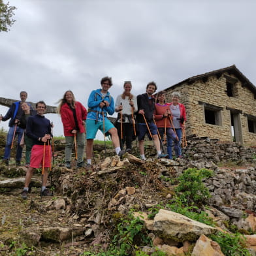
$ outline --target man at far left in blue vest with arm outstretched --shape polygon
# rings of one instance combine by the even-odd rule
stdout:
[[[20,140],[22,140],[22,135],[24,132],[24,129],[18,126],[19,123],[19,117],[22,116],[23,110],[22,110],[22,103],[24,103],[27,99],[27,92],[21,91],[20,92],[20,101],[16,101],[15,103],[12,103],[12,106],[10,106],[7,114],[5,116],[0,116],[0,121],[9,121],[9,130],[7,133],[7,142],[5,144],[5,154],[3,155],[3,163],[5,165],[9,164],[10,160],[10,148],[12,145],[12,138],[17,135],[18,136],[18,144],[17,144],[17,150],[16,150],[16,165],[20,165],[20,161],[22,159],[22,147],[20,146]]]

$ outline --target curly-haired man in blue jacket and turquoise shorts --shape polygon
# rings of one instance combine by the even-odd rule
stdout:
[[[107,114],[114,114],[114,99],[110,96],[108,89],[112,86],[112,78],[105,76],[101,79],[101,89],[91,91],[88,99],[88,116],[86,119],[86,158],[88,167],[91,165],[93,155],[93,140],[98,130],[105,135],[111,135],[112,143],[116,154],[120,157],[123,150],[120,148],[118,131],[116,127],[108,120]]]

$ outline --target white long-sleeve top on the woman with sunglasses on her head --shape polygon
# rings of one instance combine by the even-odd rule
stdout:
[[[116,98],[116,104],[115,104],[115,110],[116,112],[119,112],[118,106],[122,104],[123,110],[122,115],[123,115],[123,122],[124,123],[133,123],[132,120],[132,108],[129,104],[129,96],[125,96],[125,99],[121,98],[121,95],[118,95]],[[133,98],[133,113],[137,112],[138,106],[137,106],[137,99],[136,97]],[[118,122],[121,121],[120,115],[118,115]]]

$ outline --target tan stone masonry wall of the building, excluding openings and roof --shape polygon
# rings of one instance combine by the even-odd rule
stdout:
[[[256,100],[253,93],[238,80],[234,84],[234,97],[227,95],[226,76],[237,79],[232,74],[224,73],[221,77],[212,75],[206,82],[196,80],[193,84],[182,84],[167,91],[167,101],[171,101],[172,91],[179,91],[182,94],[181,103],[185,104],[187,113],[186,131],[187,135],[208,136],[218,138],[221,141],[232,141],[231,133],[231,111],[241,110],[239,114],[243,144],[256,145],[256,133],[248,132],[248,119],[245,114],[256,116]],[[204,105],[200,102],[212,104],[221,108],[220,125],[205,123]]]

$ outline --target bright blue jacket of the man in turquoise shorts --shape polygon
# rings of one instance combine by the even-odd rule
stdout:
[[[109,106],[104,106],[100,108],[99,104],[102,101],[108,101]],[[88,115],[87,119],[103,121],[103,112],[104,112],[104,120],[107,119],[107,114],[114,114],[115,105],[114,99],[110,96],[110,93],[107,92],[106,95],[101,93],[101,89],[96,89],[91,91],[88,99]]]

